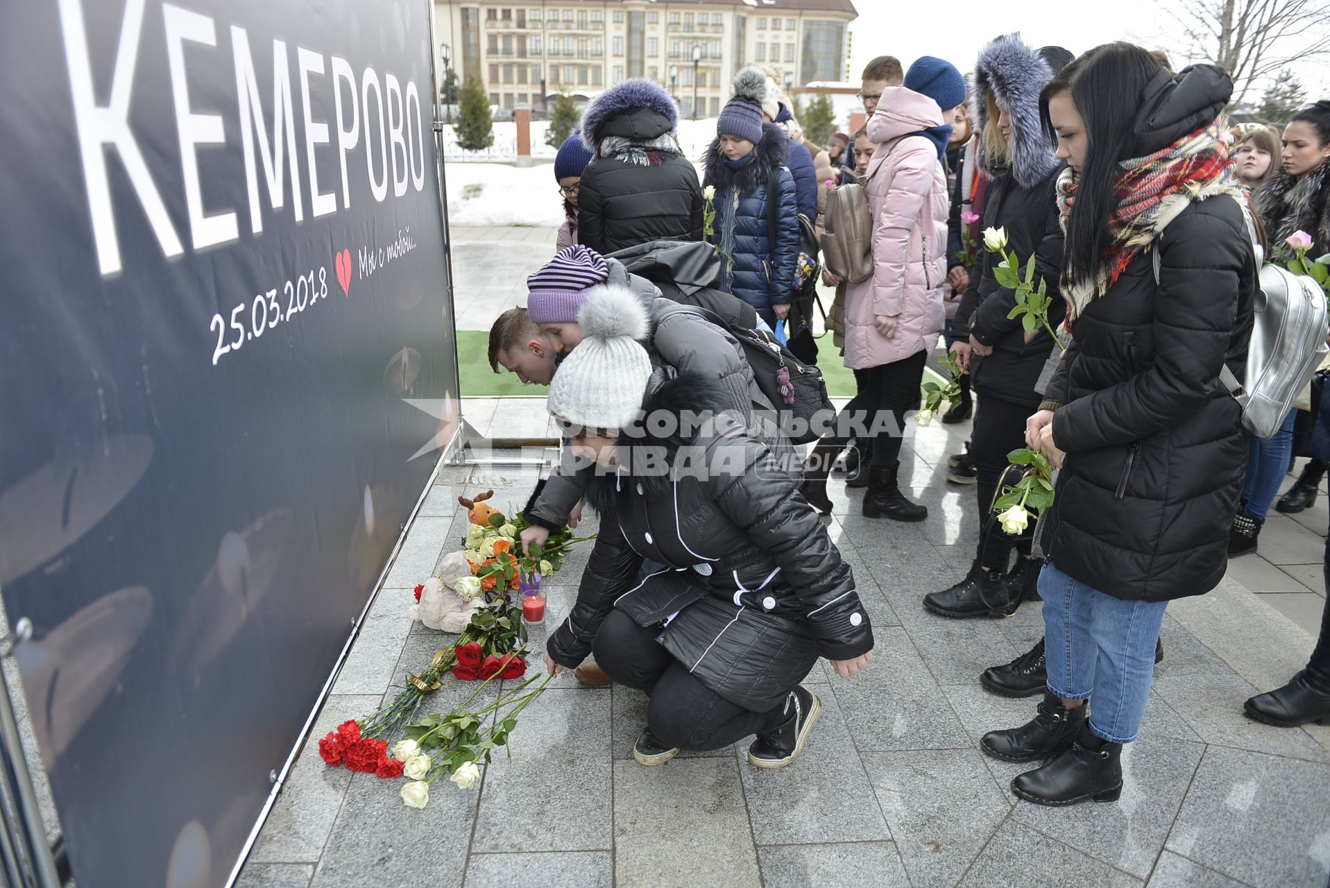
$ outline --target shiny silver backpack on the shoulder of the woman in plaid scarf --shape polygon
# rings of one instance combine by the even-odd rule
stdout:
[[[1242,407],[1242,425],[1257,437],[1279,431],[1298,392],[1330,352],[1330,315],[1321,284],[1277,265],[1264,265],[1256,227],[1242,207],[1248,235],[1256,250],[1261,277],[1256,291],[1256,316],[1248,346],[1246,384],[1225,366],[1220,382]],[[1165,229],[1168,231],[1168,229]],[[1162,237],[1162,233],[1161,235]],[[1154,246],[1154,283],[1160,280],[1158,238]]]

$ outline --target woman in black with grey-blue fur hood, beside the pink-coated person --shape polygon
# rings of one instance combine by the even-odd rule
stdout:
[[[1053,55],[1051,49],[1035,52],[1015,35],[994,40],[975,64],[971,101],[982,133],[976,162],[992,179],[982,225],[1007,231],[1007,249],[1023,267],[1035,258],[1035,273],[1047,282],[1052,299],[1048,320],[1056,328],[1064,312],[1059,292],[1063,231],[1053,201],[1060,165],[1039,120],[1039,90],[1053,76],[1044,52]],[[1035,387],[1053,348],[1041,327],[1028,335],[1020,318],[1007,316],[1016,294],[998,283],[994,269],[999,262],[998,254],[982,253],[951,322],[951,350],[962,367],[970,367],[971,386],[982,396],[970,444],[979,477],[980,542],[964,578],[924,596],[924,606],[944,617],[979,617],[990,608],[1013,610],[1039,578],[1028,536],[1016,544],[1016,564],[1008,573],[1011,537],[995,532],[986,541],[983,533],[1007,455],[1021,447],[1025,419],[1039,407]]]

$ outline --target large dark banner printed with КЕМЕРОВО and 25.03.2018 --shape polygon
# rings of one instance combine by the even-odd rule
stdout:
[[[0,11],[0,589],[81,885],[226,883],[451,440],[430,9]]]

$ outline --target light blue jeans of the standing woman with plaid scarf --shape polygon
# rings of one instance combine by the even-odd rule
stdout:
[[[1154,678],[1154,643],[1166,601],[1123,601],[1044,564],[1044,657],[1048,693],[1091,701],[1089,730],[1130,743],[1141,730]]]

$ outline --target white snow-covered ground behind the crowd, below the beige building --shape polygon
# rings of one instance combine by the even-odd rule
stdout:
[[[495,124],[492,153],[497,156],[504,145],[516,142],[516,126],[512,122]],[[456,158],[444,156],[450,225],[557,227],[563,223],[563,201],[559,198],[553,167],[548,162],[540,162],[541,160],[553,161],[556,152],[545,145],[545,121],[536,121],[531,125],[535,166],[516,167],[503,162],[458,162]],[[444,129],[446,142],[451,140],[450,129]],[[697,175],[701,181],[700,158],[710,141],[716,138],[716,118],[682,120],[678,122],[678,133],[680,148],[698,167]]]

